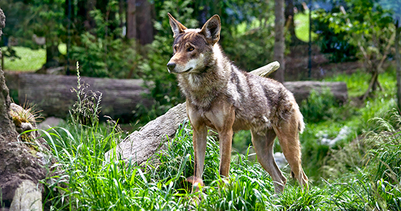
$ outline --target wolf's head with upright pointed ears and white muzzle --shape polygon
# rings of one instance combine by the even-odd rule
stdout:
[[[202,29],[188,29],[171,14],[169,20],[174,32],[174,54],[167,69],[175,74],[202,72],[213,53],[214,44],[220,39],[220,17],[215,14]]]

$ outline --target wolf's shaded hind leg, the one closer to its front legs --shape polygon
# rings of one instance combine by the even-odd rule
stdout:
[[[262,167],[270,174],[274,183],[274,192],[280,193],[284,190],[287,179],[284,177],[283,172],[277,166],[276,161],[273,157],[273,144],[276,134],[274,130],[268,129],[265,135],[260,135],[257,132],[251,130],[252,143],[254,149],[257,152],[259,163]]]

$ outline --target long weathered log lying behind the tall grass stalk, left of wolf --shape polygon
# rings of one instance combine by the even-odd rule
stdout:
[[[139,103],[151,106],[151,99],[143,97],[149,91],[142,87],[141,79],[100,79],[81,77],[81,83],[90,85],[86,90],[102,93],[100,117],[132,119]],[[77,87],[76,76],[51,74],[19,74],[19,102],[35,104],[44,117],[65,118],[77,101],[71,92]]]

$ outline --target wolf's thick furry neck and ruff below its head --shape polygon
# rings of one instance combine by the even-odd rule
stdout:
[[[187,101],[207,108],[215,97],[225,93],[231,71],[232,63],[225,57],[220,46],[215,44],[205,70],[194,74],[179,74],[178,85]]]

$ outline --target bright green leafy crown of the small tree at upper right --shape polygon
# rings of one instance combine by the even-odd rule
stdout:
[[[357,47],[356,57],[364,61],[368,71],[377,71],[381,68],[380,60],[389,54],[387,46],[393,42],[391,37],[395,32],[393,20],[384,15],[386,12],[375,6],[374,1],[348,0],[346,11],[337,6],[333,12],[321,12],[320,19],[333,30],[335,37],[339,35],[341,52],[346,52],[346,43]],[[353,52],[355,47],[351,46],[348,50]]]

